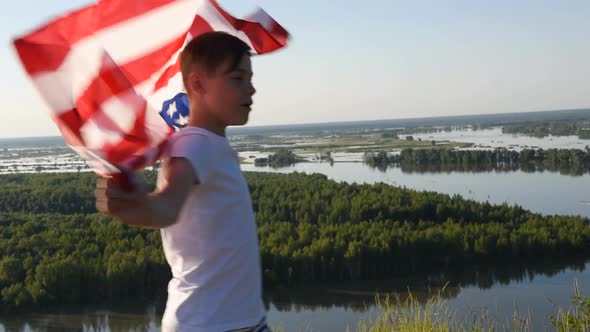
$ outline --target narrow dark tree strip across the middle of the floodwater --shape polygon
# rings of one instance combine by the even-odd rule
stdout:
[[[400,154],[365,153],[365,164],[385,169],[401,167],[405,172],[424,171],[559,171],[581,175],[590,170],[590,150],[523,149],[494,150],[404,149]]]

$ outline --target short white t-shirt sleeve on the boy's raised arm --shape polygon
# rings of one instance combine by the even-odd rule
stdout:
[[[193,166],[197,182],[203,184],[209,178],[212,170],[211,158],[213,154],[207,144],[205,135],[187,134],[175,137],[170,146],[170,158],[185,158]]]

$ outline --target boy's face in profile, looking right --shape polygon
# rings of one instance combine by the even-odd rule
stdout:
[[[225,63],[207,78],[204,101],[220,125],[243,125],[248,122],[252,95],[256,92],[252,85],[250,56],[244,55],[235,69],[229,67],[230,64]]]

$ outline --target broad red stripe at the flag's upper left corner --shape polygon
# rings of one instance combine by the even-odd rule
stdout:
[[[95,32],[175,0],[103,0],[61,16],[14,41],[29,75],[59,68],[71,46]],[[43,61],[39,61],[43,59]]]

